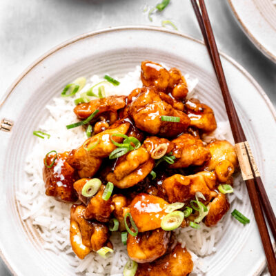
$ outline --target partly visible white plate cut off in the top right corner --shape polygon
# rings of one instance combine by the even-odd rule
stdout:
[[[228,0],[228,3],[248,38],[276,62],[276,1]]]

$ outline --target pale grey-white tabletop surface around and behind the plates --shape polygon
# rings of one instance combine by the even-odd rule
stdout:
[[[171,0],[170,6],[164,12],[152,16],[154,20],[151,23],[143,11],[146,5],[155,6],[158,2],[1,0],[0,97],[37,57],[62,41],[84,32],[110,26],[161,26],[162,20],[170,19],[181,32],[201,39],[189,0]],[[244,66],[276,106],[276,64],[264,57],[247,39],[237,25],[226,0],[207,0],[206,3],[219,49]],[[1,261],[0,275],[10,275]]]

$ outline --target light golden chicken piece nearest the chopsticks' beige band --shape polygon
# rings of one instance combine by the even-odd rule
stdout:
[[[228,160],[234,168],[238,166],[235,147],[226,140],[214,140],[206,146],[210,150],[211,159],[204,164],[205,170],[215,170],[219,162]]]

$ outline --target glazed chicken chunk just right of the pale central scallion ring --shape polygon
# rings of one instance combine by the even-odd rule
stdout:
[[[208,148],[193,135],[184,133],[172,140],[172,144],[174,144],[172,155],[176,157],[176,160],[174,164],[170,165],[170,168],[200,166],[211,157]]]

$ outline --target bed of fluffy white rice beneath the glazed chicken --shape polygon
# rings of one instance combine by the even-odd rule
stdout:
[[[116,76],[115,76],[116,77]],[[194,94],[197,79],[191,79],[185,76],[189,95]],[[99,83],[103,79],[97,75],[92,76],[81,92],[88,90],[95,83]],[[133,89],[141,87],[140,68],[129,72],[124,78],[119,79],[119,86],[106,86],[106,95],[128,95]],[[34,226],[37,226],[41,237],[44,240],[44,248],[52,250],[56,254],[63,254],[68,258],[68,266],[75,268],[77,275],[86,276],[103,276],[122,275],[124,265],[128,260],[126,246],[121,243],[121,237],[117,233],[113,233],[111,240],[115,251],[108,258],[103,259],[96,253],[90,253],[85,259],[81,260],[72,252],[69,239],[70,228],[70,206],[71,204],[56,201],[52,197],[45,195],[45,188],[42,179],[43,157],[46,152],[53,148],[57,152],[71,150],[77,148],[86,140],[86,134],[82,128],[66,129],[66,125],[76,121],[75,113],[72,112],[75,107],[74,99],[79,97],[79,93],[75,97],[55,98],[51,105],[46,106],[50,114],[46,121],[41,122],[39,129],[51,135],[50,139],[36,139],[36,144],[26,159],[26,172],[28,174],[28,182],[21,186],[21,190],[17,193],[17,200],[23,206],[23,219],[30,219]],[[197,97],[193,95],[193,97]],[[228,122],[218,122],[217,130],[213,136],[218,139],[228,139],[231,141],[230,128]],[[208,137],[206,137],[208,139]],[[235,181],[235,193],[229,197],[233,202],[240,197],[240,186]],[[217,226],[208,228],[201,224],[199,230],[193,228],[179,228],[175,232],[177,239],[182,246],[190,251],[193,261],[194,270],[191,275],[204,275],[208,269],[208,264],[204,262],[204,256],[210,255],[216,251],[216,244],[224,233],[223,219],[219,221]]]

